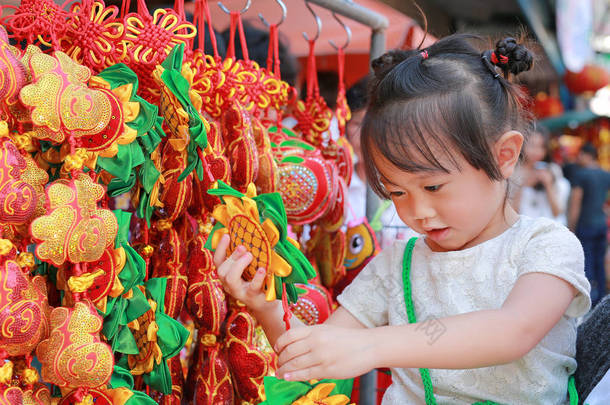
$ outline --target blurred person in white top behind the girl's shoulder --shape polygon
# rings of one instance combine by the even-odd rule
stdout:
[[[546,130],[538,127],[525,144],[513,204],[520,214],[555,219],[567,226],[570,183],[557,164],[545,161],[549,156],[548,141]]]

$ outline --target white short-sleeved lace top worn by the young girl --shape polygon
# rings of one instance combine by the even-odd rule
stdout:
[[[379,254],[338,297],[367,327],[408,323],[402,283],[405,245],[396,242]],[[478,369],[430,370],[437,403],[567,403],[568,376],[576,369],[575,318],[591,305],[583,268],[578,239],[546,218],[521,216],[501,235],[460,251],[433,252],[419,239],[411,264],[413,303],[431,343],[444,331],[438,319],[501,307],[523,274],[553,274],[578,290],[557,325],[523,358]],[[419,369],[392,369],[392,380],[384,405],[425,403]]]

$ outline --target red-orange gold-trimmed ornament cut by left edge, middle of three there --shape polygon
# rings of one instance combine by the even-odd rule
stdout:
[[[29,222],[38,206],[34,187],[21,179],[27,163],[0,122],[0,222],[11,225]]]

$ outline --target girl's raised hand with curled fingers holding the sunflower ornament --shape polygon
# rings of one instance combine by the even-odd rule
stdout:
[[[224,235],[214,252],[218,278],[229,295],[243,302],[251,310],[259,311],[268,304],[263,291],[265,270],[258,269],[251,281],[244,281],[241,275],[252,261],[252,254],[245,247],[238,246],[227,258],[229,241],[229,235]]]

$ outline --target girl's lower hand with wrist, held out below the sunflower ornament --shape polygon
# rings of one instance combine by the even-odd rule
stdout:
[[[289,381],[352,378],[375,368],[372,329],[315,325],[291,329],[275,343],[280,368]]]

